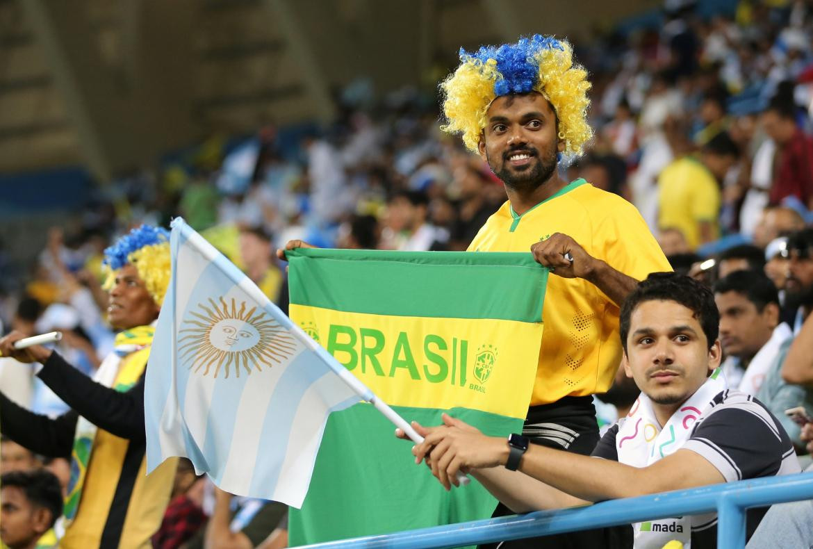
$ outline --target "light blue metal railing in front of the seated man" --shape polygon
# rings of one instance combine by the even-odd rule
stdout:
[[[461,522],[395,534],[344,539],[308,547],[320,549],[459,547],[716,511],[718,549],[741,549],[746,544],[747,508],[767,507],[772,503],[800,499],[813,499],[813,473],[755,478],[692,490],[614,499],[587,507],[530,512],[526,515],[503,516],[485,521]]]

